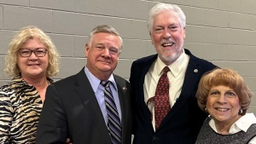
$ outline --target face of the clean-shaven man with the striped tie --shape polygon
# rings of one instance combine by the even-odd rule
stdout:
[[[119,62],[121,43],[119,37],[111,33],[96,33],[91,44],[85,46],[87,68],[99,78],[106,80],[110,77]]]

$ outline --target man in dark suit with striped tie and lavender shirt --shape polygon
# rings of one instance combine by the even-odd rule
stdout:
[[[73,144],[131,144],[131,86],[113,74],[122,43],[111,26],[96,26],[90,32],[85,45],[86,66],[78,74],[49,85],[46,91],[36,143],[66,143],[69,137]],[[116,134],[110,126],[109,101],[104,97],[102,82],[107,81],[113,96],[111,106],[120,123]]]

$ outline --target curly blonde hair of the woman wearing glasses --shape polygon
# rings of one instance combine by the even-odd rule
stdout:
[[[9,50],[5,58],[4,71],[9,74],[10,77],[20,75],[20,67],[17,64],[18,51],[22,47],[23,43],[25,43],[28,39],[33,38],[38,38],[41,43],[44,43],[46,49],[48,49],[49,65],[46,70],[46,76],[52,77],[59,72],[60,55],[58,54],[58,51],[50,37],[36,26],[26,26],[21,28],[9,43]]]

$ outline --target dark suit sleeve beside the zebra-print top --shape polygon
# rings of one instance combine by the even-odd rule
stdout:
[[[54,84],[46,90],[44,107],[38,124],[36,144],[66,143],[67,117],[60,94]]]

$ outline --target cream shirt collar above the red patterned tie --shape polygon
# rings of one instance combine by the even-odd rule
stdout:
[[[186,54],[185,54],[184,49],[183,49],[183,53],[177,58],[177,60],[175,60],[171,65],[168,66],[174,77],[177,77],[177,75],[180,72],[183,71],[183,68],[185,68],[184,65],[183,65],[183,62],[184,62],[185,59],[186,59]],[[157,60],[155,62],[155,66],[156,66],[155,67],[156,72],[160,76],[161,72],[164,69],[164,67],[166,66],[166,64],[162,60],[160,60],[159,56],[157,57]]]

